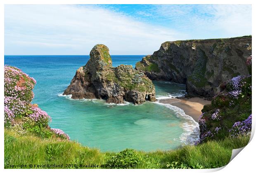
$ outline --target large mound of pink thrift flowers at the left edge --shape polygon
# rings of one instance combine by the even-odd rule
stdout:
[[[50,116],[40,108],[31,106],[31,101],[34,97],[33,87],[36,80],[29,77],[26,73],[22,72],[19,68],[5,65],[5,124],[12,123],[14,117],[26,116],[26,112],[31,111],[28,115],[36,122],[43,122],[47,124]]]

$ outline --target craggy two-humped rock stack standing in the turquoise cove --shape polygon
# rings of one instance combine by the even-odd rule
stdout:
[[[107,103],[124,101],[141,104],[155,101],[155,87],[143,72],[131,65],[119,65],[114,68],[109,49],[97,44],[90,51],[90,59],[85,66],[78,68],[64,95],[71,98],[107,99]]]

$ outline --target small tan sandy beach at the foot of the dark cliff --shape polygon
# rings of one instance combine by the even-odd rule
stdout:
[[[192,117],[196,122],[198,122],[199,116],[202,114],[201,110],[204,105],[211,104],[211,101],[204,100],[204,98],[194,97],[194,98],[167,98],[160,99],[160,103],[171,104],[183,109],[186,115]]]

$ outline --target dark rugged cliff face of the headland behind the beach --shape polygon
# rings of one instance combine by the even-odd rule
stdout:
[[[229,39],[164,42],[153,55],[136,63],[149,79],[186,84],[191,96],[212,97],[220,84],[237,75],[248,75],[251,36]]]

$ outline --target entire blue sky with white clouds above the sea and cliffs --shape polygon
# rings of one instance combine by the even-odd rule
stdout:
[[[251,35],[251,5],[5,5],[5,55],[147,55],[175,40]]]

